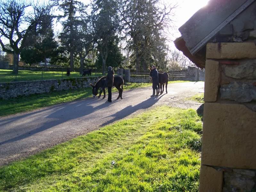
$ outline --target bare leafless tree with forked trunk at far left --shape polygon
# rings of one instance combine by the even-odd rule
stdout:
[[[33,7],[32,11],[27,8]],[[45,5],[31,5],[25,0],[0,0],[0,44],[4,52],[13,54],[13,74],[18,74],[19,57],[29,36],[40,28],[43,15],[48,14]],[[4,41],[9,40],[8,49]]]

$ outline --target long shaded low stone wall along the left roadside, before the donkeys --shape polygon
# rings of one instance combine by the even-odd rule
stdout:
[[[82,77],[0,83],[0,99],[10,99],[19,96],[28,96],[31,94],[85,88],[89,87],[90,83],[96,83],[99,78],[100,77]]]

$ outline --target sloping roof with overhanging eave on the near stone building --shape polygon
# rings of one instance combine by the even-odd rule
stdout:
[[[181,37],[174,41],[175,46],[198,67],[202,68],[204,59],[199,58],[197,53],[212,37],[254,1],[210,0],[208,5],[197,11],[179,28]]]

